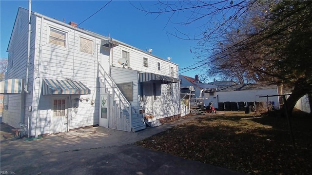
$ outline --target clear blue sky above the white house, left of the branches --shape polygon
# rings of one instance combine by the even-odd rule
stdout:
[[[107,6],[96,13],[105,4]],[[196,47],[197,42],[178,39],[168,34],[176,32],[175,28],[186,33],[194,32],[198,28],[177,26],[168,22],[169,16],[166,14],[160,16],[147,14],[133,6],[157,10],[155,4],[156,1],[149,0],[111,2],[108,0],[32,0],[31,9],[50,18],[60,21],[64,19],[66,23],[73,21],[78,24],[96,13],[78,27],[110,36],[144,51],[153,49],[152,54],[157,57],[172,58],[171,61],[179,65],[179,73],[182,75],[195,78],[196,74],[203,74],[202,70],[189,69],[198,65],[194,59],[195,54],[191,52],[191,48]],[[6,50],[19,7],[28,9],[28,0],[0,0],[1,58],[8,58]],[[176,15],[176,19],[179,18],[183,20],[185,14]]]

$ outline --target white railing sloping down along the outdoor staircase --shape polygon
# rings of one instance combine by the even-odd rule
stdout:
[[[114,82],[114,80],[106,73],[106,71],[104,70],[104,68],[101,66],[101,64],[98,62],[98,73],[102,76],[102,78],[104,79],[104,83],[105,83],[105,88],[111,88],[112,89],[112,93],[113,93],[113,99],[115,100],[115,97],[117,97],[118,100],[118,109],[119,109],[119,117],[121,117],[121,113],[123,114],[121,108],[126,109],[126,111],[129,114],[129,127],[131,130],[131,114],[132,114],[132,107],[131,104],[129,103],[129,101],[127,100],[126,97],[124,97],[124,95],[121,93],[120,89],[117,87],[116,83]],[[98,75],[99,77],[99,75]],[[100,77],[99,77],[100,78]],[[107,87],[108,85],[108,87]],[[117,103],[116,103],[117,104]],[[114,104],[115,105],[115,104]],[[124,115],[122,115],[124,117]],[[124,117],[125,118],[125,117]],[[127,118],[125,118],[127,119]]]

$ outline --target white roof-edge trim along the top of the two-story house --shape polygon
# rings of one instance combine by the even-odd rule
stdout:
[[[25,9],[25,8],[23,8],[23,7],[19,7],[18,13],[19,13],[20,9],[27,10],[27,9]],[[27,11],[28,11],[28,10],[27,10]],[[97,38],[99,38],[99,39],[113,39],[113,38],[106,37],[106,36],[100,35],[100,34],[98,34],[98,33],[95,33],[95,32],[89,31],[89,30],[86,30],[86,29],[74,27],[74,26],[72,26],[72,25],[70,25],[70,24],[67,24],[67,23],[65,23],[65,22],[59,21],[59,20],[57,20],[57,19],[53,19],[53,18],[47,17],[47,16],[42,15],[42,14],[39,14],[39,13],[37,13],[37,12],[33,12],[33,11],[32,11],[32,14],[33,14],[33,15],[36,15],[36,16],[38,16],[38,17],[40,17],[40,18],[48,19],[48,20],[50,20],[50,21],[52,21],[52,22],[58,23],[59,25],[63,25],[63,26],[69,27],[69,28],[71,28],[72,30],[77,30],[77,31],[79,31],[79,32],[81,32],[81,33],[84,33],[84,34],[87,34],[87,35],[91,35],[91,36],[97,37]],[[16,20],[16,19],[17,19],[17,17],[15,18],[15,20]],[[15,22],[14,22],[14,26],[15,26]],[[13,27],[13,29],[14,29],[14,27]],[[13,30],[12,30],[12,33],[13,33]],[[11,37],[12,37],[12,33],[11,33]],[[135,49],[135,50],[140,51],[140,52],[144,52],[144,53],[146,53],[146,54],[148,54],[148,55],[151,55],[151,56],[153,56],[153,57],[159,58],[159,59],[161,59],[161,60],[163,60],[163,61],[166,61],[166,62],[169,62],[169,63],[172,63],[172,64],[178,66],[178,64],[176,64],[176,63],[174,63],[174,62],[171,62],[171,61],[169,61],[169,60],[166,60],[166,59],[160,58],[160,57],[158,57],[158,56],[152,55],[152,54],[150,54],[150,53],[148,53],[148,52],[146,52],[146,51],[143,51],[143,50],[138,49],[138,48],[136,48],[136,47],[134,47],[134,46],[131,46],[131,45],[129,45],[129,44],[126,44],[126,43],[124,43],[124,42],[121,42],[121,41],[119,41],[119,40],[117,40],[117,39],[113,39],[113,40],[115,40],[116,42],[118,42],[118,43],[121,44],[121,45],[130,47],[130,48]],[[10,41],[11,41],[11,38],[10,38]],[[9,41],[9,43],[10,43],[10,41]],[[8,48],[9,48],[9,45],[8,45]]]

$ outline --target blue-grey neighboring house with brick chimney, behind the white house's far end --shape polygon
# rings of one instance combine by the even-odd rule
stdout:
[[[194,98],[203,98],[204,99],[204,106],[208,106],[209,102],[213,101],[214,105],[217,104],[216,98],[216,85],[202,83],[198,79],[198,75],[195,75],[195,78],[179,75],[181,79],[181,87],[182,86],[194,86]],[[216,106],[215,106],[216,107]]]

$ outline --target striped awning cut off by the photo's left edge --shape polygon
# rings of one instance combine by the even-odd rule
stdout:
[[[22,78],[13,78],[0,81],[0,94],[21,94],[23,80]]]

